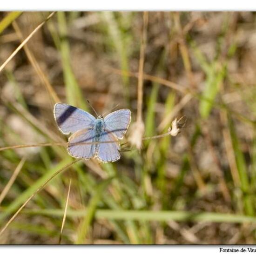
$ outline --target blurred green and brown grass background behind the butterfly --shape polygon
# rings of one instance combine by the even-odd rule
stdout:
[[[49,14],[0,13],[0,65]],[[141,48],[143,136],[185,116],[180,134],[141,150],[126,138],[115,163],[74,163],[1,244],[59,243],[70,180],[62,244],[256,243],[255,13],[55,13],[0,72],[0,147],[67,141],[55,102],[129,108],[133,136]],[[63,146],[1,150],[0,227],[73,161]]]

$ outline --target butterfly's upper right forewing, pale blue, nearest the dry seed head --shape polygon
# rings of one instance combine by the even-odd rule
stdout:
[[[127,108],[108,114],[104,118],[105,129],[122,139],[131,121],[131,111]]]

